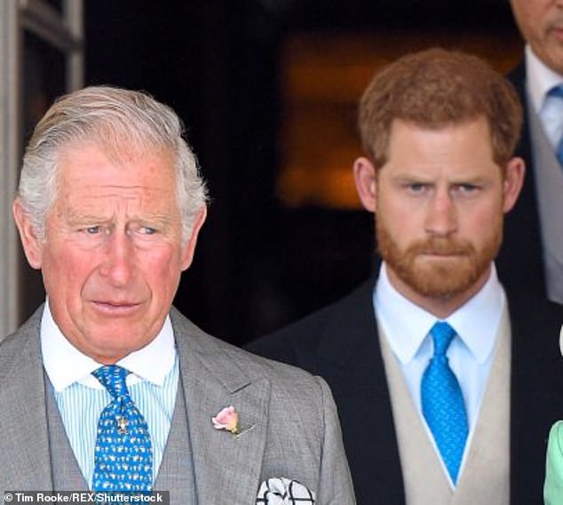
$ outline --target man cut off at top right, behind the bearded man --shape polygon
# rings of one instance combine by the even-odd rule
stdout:
[[[527,43],[509,75],[524,105],[516,153],[527,180],[506,220],[498,269],[506,285],[563,305],[563,2],[511,0],[511,8]]]

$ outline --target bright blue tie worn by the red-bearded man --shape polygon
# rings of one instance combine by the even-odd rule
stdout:
[[[448,323],[436,323],[430,333],[434,355],[420,385],[422,409],[442,460],[456,484],[468,433],[462,390],[446,357],[456,332]]]

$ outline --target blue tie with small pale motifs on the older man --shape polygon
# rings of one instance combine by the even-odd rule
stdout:
[[[125,384],[128,373],[117,365],[101,366],[92,372],[112,397],[99,416],[93,491],[135,492],[152,488],[153,449],[147,421]]]

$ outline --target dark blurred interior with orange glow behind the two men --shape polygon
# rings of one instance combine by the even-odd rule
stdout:
[[[377,68],[441,45],[507,72],[523,47],[507,0],[85,0],[81,9],[75,0],[3,1],[3,54],[10,40],[20,48],[3,69],[23,90],[15,104],[3,95],[4,117],[23,111],[12,155],[51,100],[76,85],[145,90],[183,118],[211,203],[175,304],[237,344],[369,276],[372,216],[361,211],[351,167],[361,155],[357,102]],[[72,40],[62,42],[81,54],[74,63],[28,15],[41,27],[69,8]],[[15,36],[8,14],[26,21]],[[17,179],[6,166],[4,213]],[[4,234],[13,242],[11,226]],[[7,247],[0,268],[19,293],[4,307],[15,314],[8,326],[44,300],[17,247]]]

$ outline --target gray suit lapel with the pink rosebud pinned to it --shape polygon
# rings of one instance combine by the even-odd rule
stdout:
[[[256,501],[266,445],[269,381],[250,382],[228,350],[172,312],[193,449],[199,503]],[[186,339],[189,335],[189,339]],[[214,429],[211,417],[233,405],[241,435]]]

